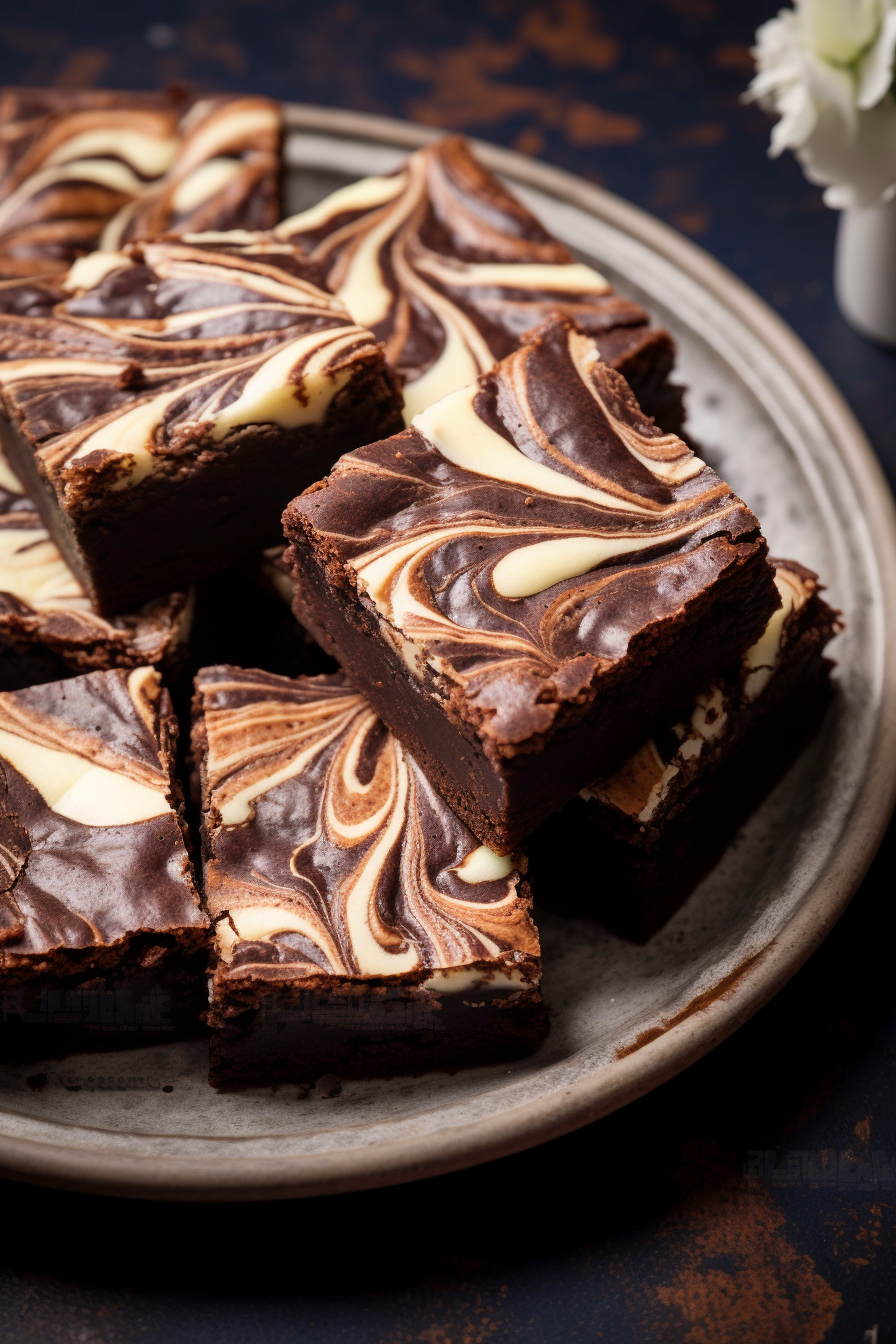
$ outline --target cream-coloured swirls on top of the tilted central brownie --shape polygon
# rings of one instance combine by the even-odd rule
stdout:
[[[463,473],[465,480],[451,482],[458,501],[467,491],[476,499],[478,480],[484,488],[531,492],[524,507],[510,512],[502,508],[500,515],[488,511],[484,517],[481,509],[459,505],[451,517],[449,504],[438,509],[438,521],[429,515],[426,521],[408,519],[410,526],[371,550],[359,548],[351,559],[359,589],[376,607],[384,628],[400,633],[403,656],[418,675],[429,663],[437,672],[469,676],[469,668],[458,673],[437,646],[476,648],[482,642],[484,628],[494,653],[535,653],[532,636],[512,617],[506,629],[496,628],[496,621],[476,620],[466,625],[433,601],[426,573],[441,569],[439,554],[447,547],[463,544],[486,552],[488,569],[476,587],[481,606],[473,610],[490,613],[494,598],[540,597],[607,562],[682,546],[705,532],[708,523],[723,530],[743,511],[740,501],[680,438],[660,434],[631,406],[619,403],[619,390],[607,371],[602,371],[594,341],[570,325],[556,324],[544,344],[551,347],[544,372],[552,372],[557,384],[563,383],[567,396],[575,378],[574,395],[580,403],[575,415],[584,423],[591,403],[613,453],[606,452],[604,444],[600,456],[570,457],[552,441],[539,421],[543,411],[532,388],[532,379],[539,376],[533,366],[544,351],[523,347],[493,375],[497,403],[512,407],[509,422],[523,427],[517,441],[480,415],[482,394],[477,384],[443,398],[418,415],[412,427],[431,452]],[[396,474],[402,456],[398,453],[395,458]],[[351,458],[343,469],[369,470],[367,462]],[[703,488],[689,485],[697,485],[701,477]],[[539,507],[548,500],[576,507],[560,521],[556,509],[547,517]],[[599,586],[599,577],[592,579]],[[544,624],[541,617],[541,628]],[[416,645],[416,653],[408,644]]]

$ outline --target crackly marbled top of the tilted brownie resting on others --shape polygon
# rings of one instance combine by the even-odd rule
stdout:
[[[759,538],[563,319],[408,430],[347,453],[285,524],[343,563],[416,675],[441,676],[510,743],[547,731],[635,634],[712,587],[732,543]]]

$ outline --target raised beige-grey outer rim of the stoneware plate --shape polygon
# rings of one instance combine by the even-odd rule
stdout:
[[[392,117],[285,103],[289,130],[322,132],[414,149],[450,132]],[[873,449],[845,398],[797,333],[748,285],[697,243],[603,187],[563,168],[473,138],[506,173],[627,233],[670,261],[759,337],[797,384],[837,446],[861,505],[881,585],[884,677],[880,720],[850,825],[834,862],[778,934],[727,977],[720,992],[673,1019],[661,1035],[548,1097],[438,1133],[328,1153],[219,1157],[98,1153],[64,1142],[0,1136],[0,1176],[90,1193],[161,1200],[292,1199],[371,1189],[445,1175],[547,1142],[658,1087],[758,1012],[807,961],[849,905],[877,852],[896,801],[896,505]]]

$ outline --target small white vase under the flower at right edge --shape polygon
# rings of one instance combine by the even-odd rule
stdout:
[[[834,293],[861,336],[896,345],[896,200],[841,211]]]

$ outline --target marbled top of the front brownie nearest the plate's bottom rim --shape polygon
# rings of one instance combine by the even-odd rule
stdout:
[[[512,860],[478,844],[341,673],[215,667],[196,688],[206,899],[227,914],[228,974],[442,984],[485,962],[520,978],[539,942]]]

